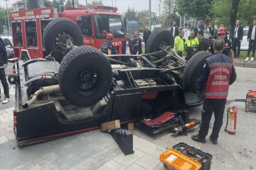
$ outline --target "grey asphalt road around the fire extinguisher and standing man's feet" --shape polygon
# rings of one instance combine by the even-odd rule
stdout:
[[[256,69],[236,67],[237,79],[229,88],[228,99],[245,99],[248,89],[256,89]],[[230,135],[224,132],[226,126],[226,111],[229,106],[238,106],[238,120],[236,125],[236,134]],[[190,118],[201,119],[201,106],[190,108]],[[162,132],[157,135],[147,135],[139,130],[135,130],[138,137],[148,140],[154,144],[166,148],[172,148],[173,145],[179,142],[185,142],[197,149],[212,154],[211,169],[256,169],[256,129],[255,129],[256,113],[245,112],[245,103],[231,103],[226,105],[223,125],[219,133],[217,145],[213,145],[209,140],[209,135],[212,132],[214,116],[212,116],[209,135],[206,137],[206,144],[194,142],[191,139],[192,135],[198,133],[196,127],[190,130],[187,136],[179,136],[176,138],[170,137],[170,133]]]

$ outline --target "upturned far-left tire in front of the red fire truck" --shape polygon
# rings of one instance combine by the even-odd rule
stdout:
[[[78,25],[68,18],[56,18],[49,22],[43,35],[43,45],[47,54],[50,54],[57,47],[58,43],[66,44],[66,40],[69,38],[73,45],[83,45],[83,34]],[[51,55],[61,63],[64,55],[66,55],[66,50],[58,47]]]

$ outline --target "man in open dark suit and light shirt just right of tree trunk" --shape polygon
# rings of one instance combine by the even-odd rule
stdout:
[[[234,26],[232,30],[231,40],[232,40],[234,56],[239,57],[241,42],[243,40],[243,27],[240,25],[239,20],[236,21],[236,26]],[[236,55],[236,47],[237,47],[237,55]]]

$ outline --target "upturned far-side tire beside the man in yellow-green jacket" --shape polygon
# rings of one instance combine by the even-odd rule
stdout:
[[[165,28],[157,28],[152,32],[147,40],[147,54],[161,51],[159,47],[170,46],[173,36]]]

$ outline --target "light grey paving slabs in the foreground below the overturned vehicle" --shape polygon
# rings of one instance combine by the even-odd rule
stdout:
[[[109,132],[101,130],[21,148],[14,139],[0,148],[0,169],[165,169],[159,161],[163,147],[133,135],[134,154],[125,156]]]

